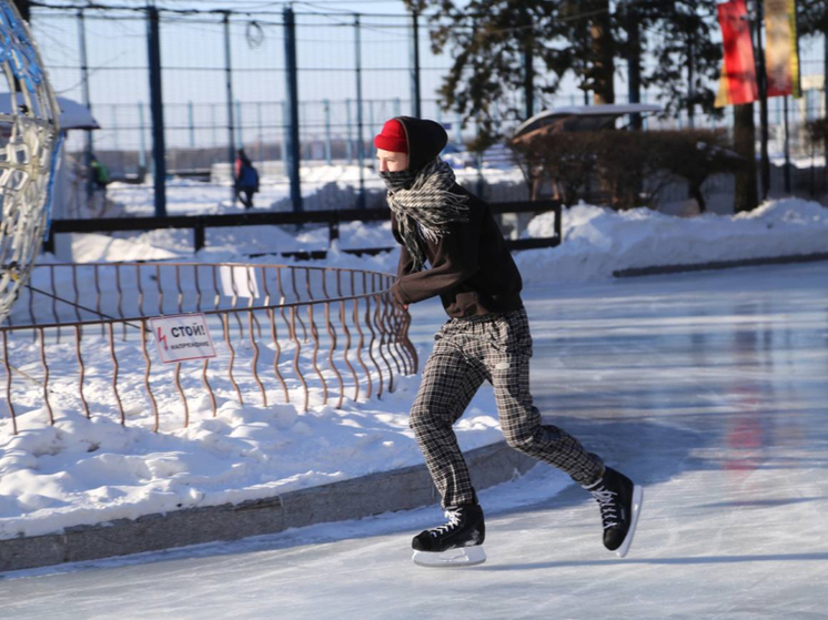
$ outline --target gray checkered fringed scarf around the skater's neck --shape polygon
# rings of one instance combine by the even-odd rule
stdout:
[[[436,243],[448,234],[452,222],[468,222],[468,196],[450,192],[454,171],[447,163],[434,160],[421,170],[408,189],[388,190],[388,206],[396,215],[400,235],[414,261],[414,271],[425,265],[425,253],[417,231]]]

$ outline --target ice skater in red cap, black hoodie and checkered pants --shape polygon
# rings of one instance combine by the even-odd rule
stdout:
[[[410,418],[448,521],[414,537],[414,561],[485,560],[483,510],[452,428],[484,380],[494,387],[507,444],[589,491],[600,507],[604,545],[624,556],[642,488],[542,423],[529,393],[532,336],[521,273],[488,204],[458,185],[440,160],[446,141],[440,124],[410,116],[391,119],[374,138],[392,232],[402,245],[394,302],[407,308],[440,295],[450,316],[434,337]],[[444,553],[451,550],[462,552]]]

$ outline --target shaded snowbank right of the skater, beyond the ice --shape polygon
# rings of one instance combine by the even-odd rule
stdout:
[[[555,215],[529,222],[524,236],[554,235]],[[634,267],[693,265],[828,252],[828,209],[799,199],[771,201],[734,216],[693,218],[649,209],[564,210],[558,247],[515,254],[528,284],[584,282]]]

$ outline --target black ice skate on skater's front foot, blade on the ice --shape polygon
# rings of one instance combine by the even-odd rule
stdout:
[[[486,561],[483,550],[486,526],[483,510],[476,504],[451,507],[448,522],[420,532],[412,540],[415,563],[421,566],[473,566]]]

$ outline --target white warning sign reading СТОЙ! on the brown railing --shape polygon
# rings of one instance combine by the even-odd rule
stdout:
[[[215,347],[203,314],[175,314],[150,319],[155,345],[164,364],[215,357]]]

